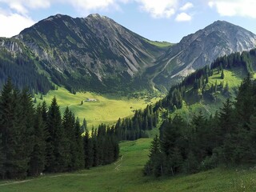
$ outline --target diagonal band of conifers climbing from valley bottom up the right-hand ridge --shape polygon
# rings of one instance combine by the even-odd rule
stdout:
[[[240,53],[230,54],[217,58],[211,66],[205,66],[188,75],[181,83],[170,88],[165,98],[156,102],[154,106],[146,106],[145,110],[134,110],[132,118],[119,118],[114,126],[115,134],[119,140],[135,140],[148,137],[146,130],[151,130],[157,126],[160,118],[166,118],[168,111],[173,112],[181,109],[183,103],[193,104],[202,99],[209,102],[217,102],[217,94],[230,98],[231,90],[228,82],[217,81],[209,87],[209,77],[218,73],[224,79],[224,69],[241,68],[245,73],[253,71],[256,49]],[[166,114],[160,117],[162,108],[167,110]]]

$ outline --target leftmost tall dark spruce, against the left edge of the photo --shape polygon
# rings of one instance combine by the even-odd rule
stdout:
[[[22,119],[21,95],[13,88],[10,79],[2,89],[0,117],[3,178],[25,178],[29,162],[26,126]]]

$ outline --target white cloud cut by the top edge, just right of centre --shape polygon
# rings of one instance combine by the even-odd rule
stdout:
[[[135,0],[141,4],[141,9],[154,18],[170,18],[177,9],[178,0]]]

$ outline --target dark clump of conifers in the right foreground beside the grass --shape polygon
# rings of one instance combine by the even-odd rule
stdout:
[[[244,79],[234,102],[206,118],[194,114],[166,119],[150,146],[144,174],[154,176],[196,173],[216,166],[256,162],[256,81]]]

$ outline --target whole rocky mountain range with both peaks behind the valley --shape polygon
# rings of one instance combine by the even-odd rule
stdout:
[[[102,93],[153,87],[168,90],[214,59],[255,45],[255,34],[218,21],[166,46],[166,42],[151,42],[98,14],[86,18],[57,14],[13,38],[0,38],[0,51],[8,50],[14,57],[26,54],[49,82],[69,90]],[[5,73],[2,78],[11,76]]]

